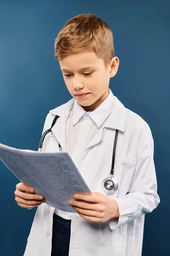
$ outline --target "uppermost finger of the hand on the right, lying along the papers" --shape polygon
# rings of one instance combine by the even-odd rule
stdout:
[[[78,196],[78,197],[77,197]],[[105,196],[104,195],[84,195],[84,194],[75,194],[74,198],[77,200],[83,200],[90,203],[104,203],[105,202]]]

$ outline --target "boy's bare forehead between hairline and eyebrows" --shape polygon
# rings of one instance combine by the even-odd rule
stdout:
[[[62,71],[68,70],[88,70],[97,68],[102,59],[97,58],[94,52],[82,52],[70,54],[59,61]]]

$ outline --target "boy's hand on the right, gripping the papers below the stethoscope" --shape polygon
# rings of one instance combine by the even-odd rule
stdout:
[[[70,200],[69,204],[72,203],[72,207],[85,220],[104,223],[112,218],[119,218],[119,207],[115,200],[99,192],[92,195],[75,194],[74,198],[76,195],[78,198]]]

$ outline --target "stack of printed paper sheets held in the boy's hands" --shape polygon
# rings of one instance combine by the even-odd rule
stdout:
[[[46,204],[76,212],[68,204],[74,194],[91,191],[67,152],[38,152],[0,143],[0,160],[20,180],[46,199]]]

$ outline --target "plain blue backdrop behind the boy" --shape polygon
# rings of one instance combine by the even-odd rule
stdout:
[[[146,215],[143,256],[170,255],[170,1],[0,0],[0,143],[37,150],[45,116],[71,99],[54,57],[54,40],[75,15],[110,26],[119,71],[114,95],[150,125],[159,207]],[[0,163],[0,255],[23,256],[36,209],[17,206],[17,180]]]

